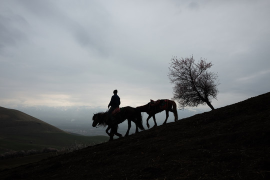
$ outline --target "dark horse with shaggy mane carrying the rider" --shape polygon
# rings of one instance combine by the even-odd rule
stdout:
[[[144,130],[144,127],[142,125],[141,113],[134,107],[130,107],[130,106],[121,107],[120,112],[116,113],[114,115],[114,118],[115,120],[112,123],[107,122],[107,112],[98,112],[94,114],[92,117],[92,120],[93,120],[92,126],[95,127],[96,125],[101,125],[105,127],[106,125],[108,125],[105,131],[110,137],[109,140],[113,139],[114,134],[119,137],[122,136],[120,133],[117,132],[117,127],[118,127],[118,124],[123,122],[125,119],[127,119],[128,128],[124,136],[127,136],[129,134],[131,121],[133,121],[136,124],[135,133],[138,132],[138,128],[140,130]],[[111,129],[110,133],[108,132],[109,129]]]

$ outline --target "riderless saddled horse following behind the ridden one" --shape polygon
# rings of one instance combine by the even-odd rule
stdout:
[[[154,126],[157,126],[154,114],[161,112],[163,110],[166,111],[166,118],[163,124],[167,122],[169,111],[173,112],[174,121],[178,119],[176,103],[173,100],[169,99],[158,99],[156,101],[150,100],[150,102],[148,102],[147,104],[138,106],[136,107],[136,109],[138,109],[140,112],[146,112],[148,114],[148,117],[146,119],[146,125],[148,128],[149,128],[148,123],[149,118],[153,117]]]

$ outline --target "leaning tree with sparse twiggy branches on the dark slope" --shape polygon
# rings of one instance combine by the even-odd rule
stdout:
[[[170,61],[168,77],[170,83],[174,83],[173,99],[182,108],[206,103],[213,110],[211,99],[216,99],[219,82],[216,73],[207,71],[212,63],[202,58],[195,63],[193,55],[189,58],[172,57]]]

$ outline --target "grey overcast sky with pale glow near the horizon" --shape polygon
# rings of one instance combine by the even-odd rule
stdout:
[[[0,0],[0,106],[170,99],[170,59],[192,54],[229,105],[270,91],[269,17],[269,0]]]

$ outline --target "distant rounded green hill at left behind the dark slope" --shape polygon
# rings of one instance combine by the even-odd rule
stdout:
[[[70,134],[21,111],[0,107],[0,153],[44,147],[61,149],[76,142],[94,144],[107,139]]]

